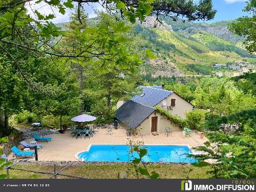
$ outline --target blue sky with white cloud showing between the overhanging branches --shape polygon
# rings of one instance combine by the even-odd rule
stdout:
[[[197,2],[198,0],[194,1]],[[212,0],[214,9],[217,10],[217,14],[214,19],[207,21],[207,23],[218,22],[220,20],[236,19],[238,17],[246,15],[246,13],[242,11],[242,9],[246,6],[245,1],[246,0]],[[30,9],[30,6],[27,5],[27,7],[31,16],[33,16],[34,13]],[[69,22],[70,15],[74,11],[73,9],[67,9],[66,14],[62,15],[58,13],[56,9],[53,8],[52,11],[49,6],[45,6],[44,4],[31,5],[31,7],[32,9],[37,9],[40,13],[44,13],[45,15],[53,13],[54,11],[56,18],[51,20],[53,23]],[[102,7],[100,7],[100,5],[98,4],[86,4],[84,5],[84,8],[88,13],[89,17],[96,16],[94,10],[102,10]]]

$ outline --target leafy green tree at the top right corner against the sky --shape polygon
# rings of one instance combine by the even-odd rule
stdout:
[[[244,36],[244,45],[249,53],[256,52],[256,1],[246,1],[247,6],[243,9],[244,12],[248,12],[252,16],[243,16],[236,20],[236,23],[229,25],[229,30],[233,33]]]

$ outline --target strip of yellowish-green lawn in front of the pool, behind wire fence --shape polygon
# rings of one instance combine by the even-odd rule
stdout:
[[[189,178],[209,178],[210,176],[206,174],[208,168],[202,167],[192,167],[190,165],[181,165],[181,164],[155,164],[155,165],[147,165],[148,169],[152,172],[155,170],[160,174],[162,179],[179,179],[185,178],[183,172],[188,171],[193,168],[193,171],[189,174]],[[53,172],[53,165],[16,165],[16,168],[37,170],[42,172]],[[57,170],[62,168],[63,166],[58,166]],[[122,177],[125,173],[127,165],[125,164],[87,164],[87,165],[76,165],[67,168],[61,172],[62,174],[67,175],[75,175],[80,177],[92,178],[92,179],[116,179],[118,177],[118,173]],[[5,172],[5,171],[4,171]],[[2,171],[2,173],[4,173]],[[1,173],[0,173],[1,174]],[[17,179],[29,179],[33,178],[34,173],[25,172],[22,170],[10,170],[10,177]],[[35,174],[38,179],[47,179],[50,178],[50,175],[46,174]],[[58,178],[67,178],[58,176]],[[128,176],[128,178],[134,178],[133,176]]]

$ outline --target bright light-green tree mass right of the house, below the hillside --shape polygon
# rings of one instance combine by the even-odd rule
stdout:
[[[244,94],[227,78],[204,77],[200,79],[192,103],[199,109],[210,110],[219,115],[238,113],[251,109],[256,99],[250,93]]]

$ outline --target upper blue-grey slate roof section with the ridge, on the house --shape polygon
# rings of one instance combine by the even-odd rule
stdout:
[[[139,88],[142,89],[142,92],[139,95],[134,96],[131,100],[147,106],[155,106],[173,93],[172,91],[155,89],[151,87],[140,86]]]

